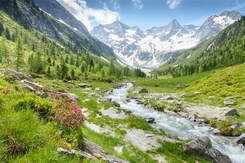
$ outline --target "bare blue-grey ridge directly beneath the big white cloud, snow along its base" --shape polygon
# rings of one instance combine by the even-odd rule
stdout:
[[[73,29],[85,35],[89,35],[87,28],[56,0],[34,0],[34,2],[41,10],[49,13],[60,22],[64,22]]]

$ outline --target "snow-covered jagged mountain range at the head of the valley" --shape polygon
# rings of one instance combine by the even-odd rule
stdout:
[[[199,28],[180,25],[177,20],[146,31],[129,27],[120,21],[99,25],[91,34],[114,49],[115,54],[132,67],[154,69],[179,55],[183,50],[215,36],[241,17],[235,11],[211,16]]]

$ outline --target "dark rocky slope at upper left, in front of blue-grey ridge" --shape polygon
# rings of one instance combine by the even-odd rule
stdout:
[[[81,33],[57,19],[48,16],[33,5],[31,0],[1,0],[0,9],[13,17],[18,23],[28,29],[37,29],[47,34],[61,44],[68,46],[76,53],[85,49],[91,50],[98,56],[109,55],[115,58],[113,50],[90,34]],[[16,3],[15,3],[16,2]]]

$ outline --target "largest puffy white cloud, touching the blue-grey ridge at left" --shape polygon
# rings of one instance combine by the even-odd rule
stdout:
[[[109,24],[120,20],[118,12],[113,12],[103,5],[102,9],[93,9],[87,6],[85,0],[58,0],[71,14],[80,20],[89,31],[98,24]]]

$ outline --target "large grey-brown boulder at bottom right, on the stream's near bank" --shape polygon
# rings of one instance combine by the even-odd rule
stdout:
[[[212,148],[209,137],[197,138],[184,145],[184,152],[196,154],[212,160],[215,163],[232,163],[227,155],[222,154],[219,150]]]

